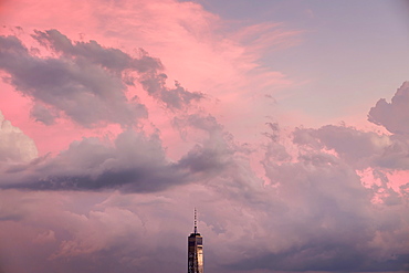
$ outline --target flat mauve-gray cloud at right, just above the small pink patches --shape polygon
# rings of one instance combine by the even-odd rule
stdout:
[[[409,168],[408,140],[399,135],[378,135],[354,127],[327,125],[318,129],[297,128],[294,143],[308,149],[334,150],[356,169],[380,167]]]

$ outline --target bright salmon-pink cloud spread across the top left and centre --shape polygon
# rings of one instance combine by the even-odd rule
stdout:
[[[244,116],[245,120],[251,122],[265,116],[264,107],[255,107],[259,112],[251,111],[254,108],[254,103],[262,103],[264,94],[253,94],[252,97],[248,97],[249,88],[260,90],[291,84],[282,73],[262,69],[258,64],[261,51],[264,49],[254,48],[254,44],[273,48],[289,46],[298,34],[295,31],[285,31],[279,25],[254,25],[248,28],[245,34],[232,34],[223,30],[220,18],[192,2],[120,1],[101,4],[101,2],[86,1],[56,6],[54,1],[44,0],[35,4],[30,1],[13,1],[7,4],[10,9],[10,13],[4,18],[7,25],[22,27],[29,34],[34,29],[53,28],[74,41],[84,39],[86,42],[88,39],[95,39],[105,46],[119,48],[129,53],[134,53],[137,48],[144,48],[150,55],[160,57],[165,64],[169,84],[178,80],[189,91],[193,88],[192,92],[200,91],[207,94],[211,101],[206,103],[206,107],[216,111],[218,117],[226,120],[226,124],[233,124],[237,119],[244,120]],[[65,14],[71,14],[76,20],[67,24]],[[263,41],[245,44],[245,36],[255,35],[261,35]],[[24,34],[21,36],[23,39]],[[32,44],[25,38],[23,41]],[[219,102],[218,106],[214,106],[214,98]],[[144,96],[141,99],[145,99]],[[232,101],[237,103],[231,104]],[[241,105],[241,108],[233,105]],[[156,112],[154,109],[157,106],[148,105],[148,107],[151,108],[151,113]],[[6,112],[6,115],[9,114]],[[9,118],[14,119],[13,116]],[[162,114],[150,115],[149,119],[154,124],[164,124]],[[17,125],[23,129],[32,127],[28,123],[29,120]],[[30,132],[30,135],[35,141],[42,143],[42,139],[36,139],[36,135],[49,129],[51,128],[38,128],[35,133]],[[228,129],[241,133],[239,127],[232,126]],[[72,127],[70,130],[76,129]],[[92,132],[82,134],[96,135]],[[172,134],[166,132],[162,135],[165,144],[169,147],[172,147],[170,145],[172,140],[167,135]],[[72,138],[78,139],[75,136]],[[62,139],[57,141],[62,143]],[[55,147],[67,147],[67,144],[56,143]],[[57,150],[54,147],[44,146],[45,141],[44,145],[39,145],[41,154]]]

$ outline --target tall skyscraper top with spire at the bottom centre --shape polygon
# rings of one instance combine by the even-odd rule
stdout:
[[[188,237],[188,273],[203,273],[203,238],[198,232],[195,209],[195,232]]]

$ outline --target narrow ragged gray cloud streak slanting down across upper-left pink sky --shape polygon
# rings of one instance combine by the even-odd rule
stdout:
[[[139,59],[133,59],[120,50],[103,48],[95,41],[72,44],[70,39],[56,30],[36,31],[33,38],[55,52],[71,57],[86,59],[118,75],[123,72],[138,72],[138,81],[148,94],[161,101],[169,108],[182,109],[192,101],[200,101],[204,97],[202,93],[187,91],[178,82],[175,82],[174,88],[166,87],[167,75],[158,73],[162,70],[160,61],[150,57],[143,49],[139,49]],[[134,84],[136,78],[125,73],[123,80],[127,84]]]

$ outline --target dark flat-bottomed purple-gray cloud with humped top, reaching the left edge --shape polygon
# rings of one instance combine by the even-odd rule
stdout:
[[[1,188],[160,191],[217,176],[232,165],[233,154],[222,132],[217,130],[179,161],[170,161],[158,135],[126,130],[113,146],[97,138],[84,138],[72,143],[56,157],[39,158],[25,165],[4,165]]]

